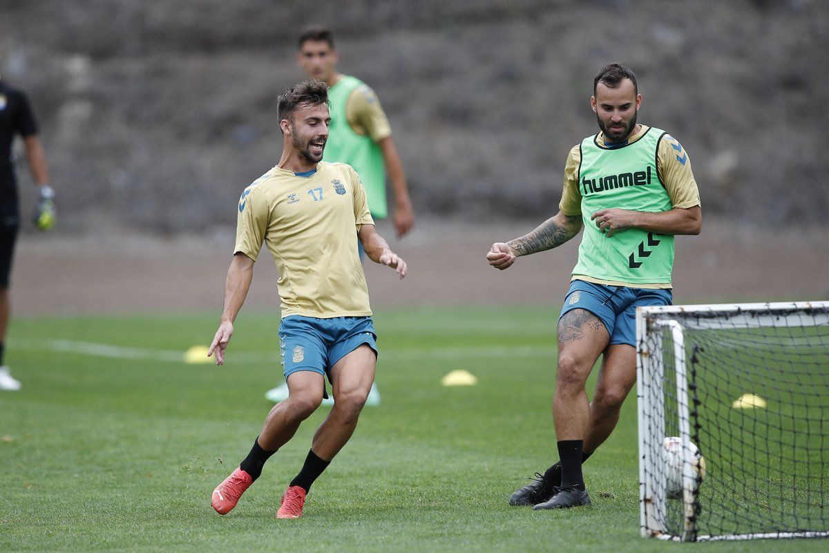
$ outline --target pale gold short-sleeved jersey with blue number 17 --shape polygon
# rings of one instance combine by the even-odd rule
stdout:
[[[366,317],[371,307],[357,233],[373,224],[351,166],[321,162],[308,173],[274,167],[242,192],[234,253],[256,260],[268,245],[283,318]]]

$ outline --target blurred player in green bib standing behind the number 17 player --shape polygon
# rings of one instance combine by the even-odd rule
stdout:
[[[308,27],[300,34],[298,64],[309,78],[322,80],[329,87],[331,128],[323,160],[354,167],[366,187],[369,210],[375,220],[385,219],[389,213],[385,196],[387,172],[394,193],[392,221],[398,237],[402,237],[414,226],[414,211],[389,119],[374,90],[356,77],[338,73],[337,61],[339,56],[331,29]],[[265,397],[274,402],[284,400],[288,397],[288,386],[276,386]],[[376,385],[371,386],[368,405],[379,403],[380,392]]]

